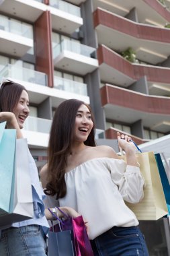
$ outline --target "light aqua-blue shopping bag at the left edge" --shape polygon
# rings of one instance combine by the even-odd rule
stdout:
[[[16,130],[0,123],[0,216],[13,210]]]

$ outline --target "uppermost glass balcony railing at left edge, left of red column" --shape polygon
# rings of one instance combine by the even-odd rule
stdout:
[[[32,25],[19,22],[17,20],[9,20],[9,18],[5,15],[0,15],[0,20],[0,30],[33,39]]]

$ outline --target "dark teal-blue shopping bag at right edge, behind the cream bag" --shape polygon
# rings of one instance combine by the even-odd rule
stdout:
[[[155,154],[155,158],[157,160],[157,166],[158,166],[159,174],[161,177],[161,183],[163,185],[163,192],[164,192],[165,200],[167,203],[167,209],[168,209],[167,216],[169,216],[169,214],[170,214],[170,185],[169,185],[169,181],[167,179],[167,174],[165,172],[165,168],[163,166],[161,155],[159,153]]]

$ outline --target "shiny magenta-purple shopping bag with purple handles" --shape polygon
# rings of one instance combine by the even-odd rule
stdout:
[[[60,210],[59,207],[57,209]],[[48,208],[48,210],[50,210]],[[51,212],[51,211],[50,211]],[[52,212],[51,212],[52,214]],[[91,243],[89,241],[87,231],[85,228],[85,223],[83,221],[82,216],[78,216],[77,218],[73,218],[62,212],[63,216],[65,216],[65,220],[60,220],[54,214],[52,214],[59,223],[52,226],[50,228],[50,232],[63,232],[63,231],[71,231],[71,241],[73,243],[73,251],[75,256],[94,256],[91,248]],[[53,255],[52,255],[53,256]]]

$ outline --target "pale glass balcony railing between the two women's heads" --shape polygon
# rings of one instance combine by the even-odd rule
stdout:
[[[39,117],[28,117],[24,123],[24,130],[36,131],[39,133],[50,133],[52,120]]]

